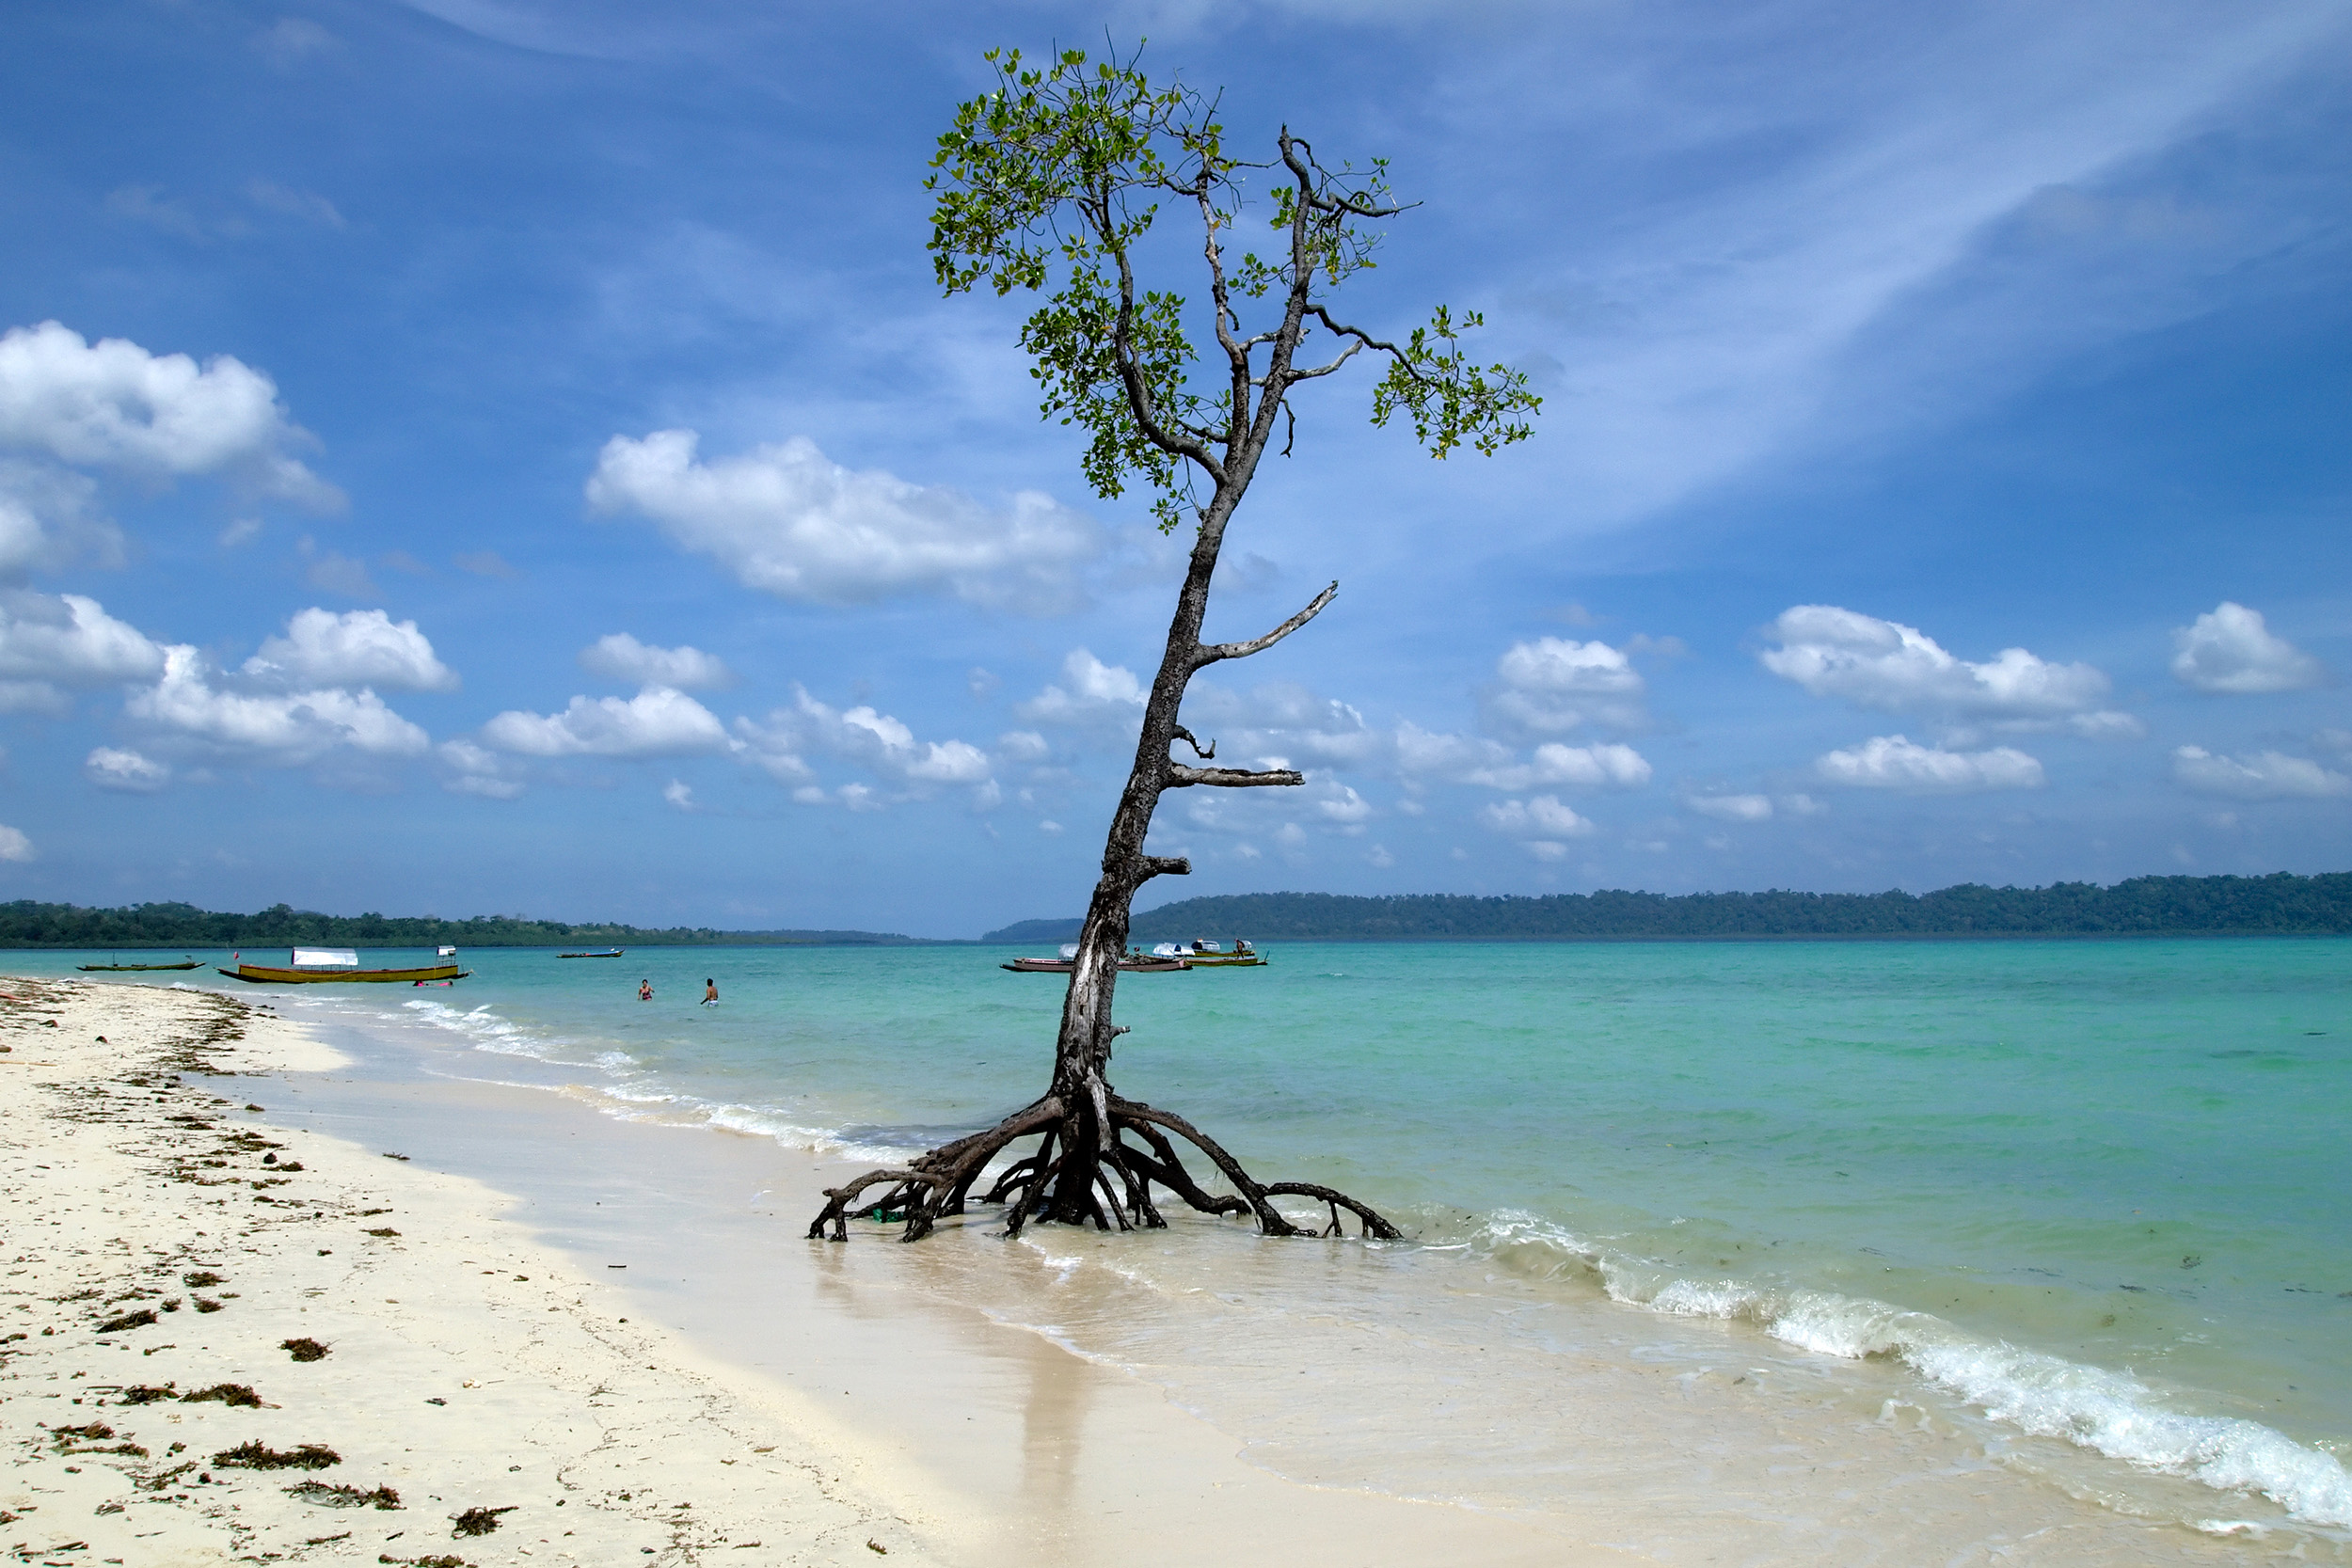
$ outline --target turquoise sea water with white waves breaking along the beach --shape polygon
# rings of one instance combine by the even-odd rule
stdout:
[[[499,1058],[560,1067],[621,1114],[884,1159],[1042,1088],[1063,983],[1004,973],[1004,957],[496,950],[466,954],[475,976],[449,990],[301,1001],[426,1023],[482,1077]],[[1303,1288],[1437,1352],[1477,1338],[1484,1356],[1494,1338],[1491,1410],[1559,1352],[1559,1312],[1712,1321],[1788,1375],[1891,1373],[1924,1408],[2063,1448],[2067,1486],[2126,1512],[2336,1549],[2352,1530],[2338,1458],[2352,945],[1287,943],[1268,957],[1124,978],[1117,1088],[1185,1112],[1261,1178],[1374,1201],[1414,1244],[1376,1281],[1301,1286],[1256,1281],[1228,1241],[1240,1227],[1124,1253],[1042,1237],[1070,1267],[1110,1262],[1129,1295],[1162,1300],[1164,1333],[1131,1302],[1089,1319],[1007,1300],[1007,1316],[1061,1312],[1049,1326],[1075,1349],[1152,1368],[1211,1415],[1207,1375],[1174,1349],[1197,1328],[1202,1279],[1240,1342],[1312,1316]],[[720,1006],[696,1006],[706,978]],[[1489,1333],[1498,1314],[1508,1331]],[[1315,1441],[1261,1436],[1270,1455]],[[1486,1455],[1482,1486],[1524,1502],[1545,1465]]]

